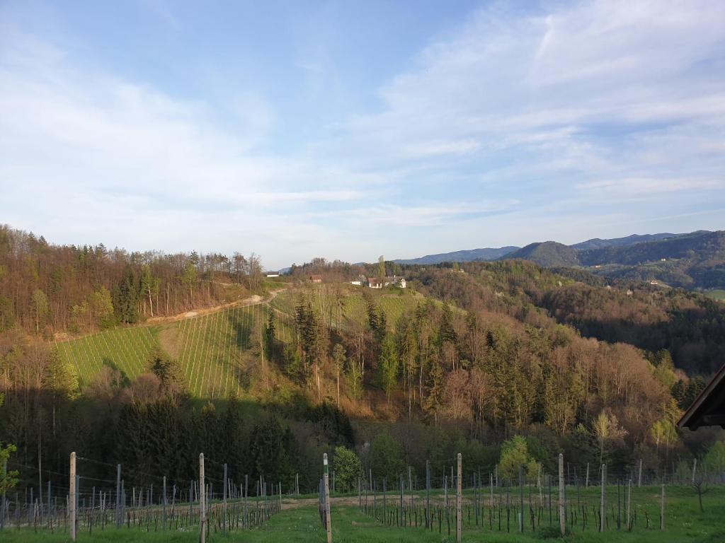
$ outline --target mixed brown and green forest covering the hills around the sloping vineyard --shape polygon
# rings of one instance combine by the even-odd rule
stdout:
[[[311,489],[321,453],[336,447],[394,475],[462,451],[470,469],[492,468],[512,439],[548,471],[564,452],[622,471],[641,458],[662,475],[722,439],[676,429],[725,345],[723,309],[692,292],[526,261],[318,258],[286,279],[290,339],[275,333],[284,316],[275,306],[247,348],[260,366],[244,394],[211,399],[185,390],[160,343],[135,379],[108,365],[80,387],[49,339],[220,303],[230,285],[262,292],[258,257],[141,255],[1,232],[0,442],[17,447],[9,466],[22,468],[21,485],[38,471],[62,485],[71,450],[96,460],[90,477],[109,479],[122,463],[131,483],[149,474],[186,481],[203,449],[210,476],[228,462],[237,480],[249,473],[289,488],[299,473]],[[341,286],[360,274],[403,274],[410,288]],[[350,292],[362,293],[360,317]],[[395,315],[386,311],[384,300],[404,297]]]

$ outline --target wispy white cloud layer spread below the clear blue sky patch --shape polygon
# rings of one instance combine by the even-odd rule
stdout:
[[[641,220],[696,216],[723,199],[723,20],[708,0],[493,4],[370,90],[377,111],[286,153],[268,151],[283,119],[254,89],[178,98],[3,32],[0,214],[60,241],[252,248],[279,266],[559,239],[569,224],[602,237],[628,199]],[[332,92],[320,43],[293,63]]]

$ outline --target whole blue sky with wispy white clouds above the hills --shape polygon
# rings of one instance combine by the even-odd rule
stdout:
[[[725,2],[0,0],[0,223],[315,256],[725,228]]]

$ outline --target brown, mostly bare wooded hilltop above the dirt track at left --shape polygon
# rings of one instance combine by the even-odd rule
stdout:
[[[260,257],[52,245],[0,224],[0,332],[52,337],[136,324],[264,288]]]

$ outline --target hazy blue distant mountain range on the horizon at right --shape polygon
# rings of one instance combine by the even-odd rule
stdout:
[[[725,288],[725,231],[595,238],[573,245],[555,241],[523,248],[481,248],[396,260],[399,264],[440,264],[521,258],[547,268],[587,268],[621,279],[699,289]]]

